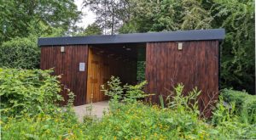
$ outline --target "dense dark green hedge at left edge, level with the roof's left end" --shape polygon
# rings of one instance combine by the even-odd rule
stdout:
[[[39,55],[36,37],[16,37],[0,46],[0,67],[36,69]]]

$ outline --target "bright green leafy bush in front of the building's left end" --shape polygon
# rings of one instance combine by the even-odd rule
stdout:
[[[60,82],[51,72],[0,68],[1,114],[19,116],[52,109],[62,97]]]

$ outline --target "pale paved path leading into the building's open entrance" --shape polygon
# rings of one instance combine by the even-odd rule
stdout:
[[[98,118],[102,118],[103,111],[108,111],[108,101],[96,102],[93,104],[84,104],[73,107],[76,115],[79,117],[79,121],[83,121],[84,115],[96,115]],[[91,110],[91,111],[90,111]]]

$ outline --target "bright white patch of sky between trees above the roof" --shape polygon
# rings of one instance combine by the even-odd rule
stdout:
[[[77,23],[79,27],[86,28],[88,25],[92,24],[96,19],[96,14],[92,13],[89,8],[82,8],[83,0],[75,0],[74,3],[78,6],[79,11],[82,11],[82,20],[80,23]]]

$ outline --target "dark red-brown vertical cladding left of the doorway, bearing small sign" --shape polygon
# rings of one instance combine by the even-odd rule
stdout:
[[[76,95],[74,105],[86,102],[86,80],[87,80],[87,45],[65,46],[65,53],[61,53],[61,47],[41,47],[42,70],[54,68],[54,75],[61,75],[61,83],[64,90],[61,95],[67,104],[67,90],[69,88]],[[79,63],[85,63],[85,70],[79,71]]]

